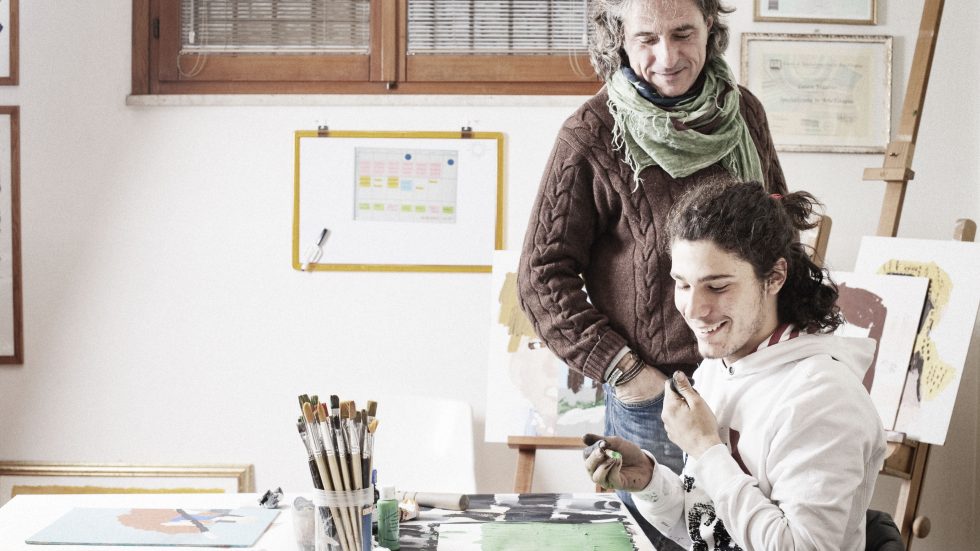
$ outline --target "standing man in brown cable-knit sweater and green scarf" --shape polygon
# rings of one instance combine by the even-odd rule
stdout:
[[[658,244],[667,211],[719,176],[775,193],[786,183],[762,105],[722,59],[731,9],[719,0],[591,5],[590,56],[605,86],[555,141],[521,255],[521,306],[571,369],[605,383],[606,433],[679,470],[660,419],[663,383],[693,372],[699,356]],[[629,494],[620,497],[632,510]]]

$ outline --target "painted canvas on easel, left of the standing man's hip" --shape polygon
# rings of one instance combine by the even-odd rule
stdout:
[[[602,385],[568,369],[517,302],[518,251],[495,251],[491,277],[486,441],[602,431]]]

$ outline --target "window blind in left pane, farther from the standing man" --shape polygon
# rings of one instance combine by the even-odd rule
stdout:
[[[370,0],[181,0],[181,53],[368,53]]]

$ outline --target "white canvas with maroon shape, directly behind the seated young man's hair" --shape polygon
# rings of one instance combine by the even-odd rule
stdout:
[[[891,430],[905,388],[929,280],[856,272],[832,272],[831,277],[837,283],[837,305],[846,321],[835,333],[869,337],[878,343],[871,367],[865,373],[864,387],[871,394],[882,425]]]

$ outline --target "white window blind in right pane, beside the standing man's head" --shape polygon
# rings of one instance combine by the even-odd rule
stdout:
[[[409,54],[584,52],[587,0],[409,0]]]

